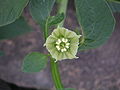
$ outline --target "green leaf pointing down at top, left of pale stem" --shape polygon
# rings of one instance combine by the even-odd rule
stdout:
[[[31,0],[30,13],[33,19],[44,29],[46,20],[50,15],[55,0]]]

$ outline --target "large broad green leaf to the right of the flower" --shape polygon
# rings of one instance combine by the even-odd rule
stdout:
[[[102,45],[113,32],[115,20],[105,0],[75,0],[77,18],[83,31],[79,50]]]

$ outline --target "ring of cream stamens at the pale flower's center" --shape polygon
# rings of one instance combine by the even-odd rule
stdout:
[[[70,48],[68,39],[62,38],[56,41],[56,48],[58,51],[65,52]]]

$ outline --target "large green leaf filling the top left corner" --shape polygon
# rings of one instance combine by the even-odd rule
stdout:
[[[0,26],[14,22],[29,0],[0,0]]]

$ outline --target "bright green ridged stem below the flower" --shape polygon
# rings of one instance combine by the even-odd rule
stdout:
[[[52,79],[54,81],[56,89],[63,89],[63,85],[60,78],[60,73],[58,69],[58,64],[55,62],[53,58],[50,59],[50,66],[51,66],[51,73],[52,73]]]

